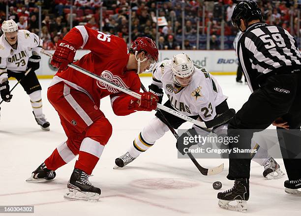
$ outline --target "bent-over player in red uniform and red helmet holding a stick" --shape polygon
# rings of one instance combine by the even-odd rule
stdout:
[[[110,95],[114,113],[128,115],[155,109],[158,98],[147,92],[140,93],[140,100],[136,99],[67,67],[80,48],[91,52],[74,64],[137,93],[140,92],[138,74],[158,60],[158,50],[150,38],[139,37],[127,53],[122,38],[85,26],[72,28],[57,43],[51,64],[59,71],[48,88],[47,96],[59,113],[68,139],[32,172],[27,181],[54,179],[56,169],[79,155],[67,185],[69,191],[64,197],[98,200],[100,189],[90,184],[88,176],[112,135],[112,125],[100,110],[100,99]]]

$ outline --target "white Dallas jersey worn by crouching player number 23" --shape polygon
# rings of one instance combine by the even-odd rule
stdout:
[[[195,73],[186,87],[177,87],[173,81],[171,60],[156,63],[152,69],[152,83],[163,88],[173,108],[181,114],[200,115],[203,121],[212,120],[215,107],[228,97],[223,95],[216,79],[205,68],[195,66]]]

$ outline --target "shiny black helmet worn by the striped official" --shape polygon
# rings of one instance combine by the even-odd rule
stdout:
[[[262,22],[262,13],[255,1],[242,0],[235,6],[231,17],[233,26],[240,28],[241,19],[246,23],[256,19]]]

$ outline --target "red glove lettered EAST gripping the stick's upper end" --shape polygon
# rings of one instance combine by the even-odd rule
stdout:
[[[76,49],[66,40],[58,40],[56,47],[50,64],[60,70],[65,70],[67,65],[73,62]]]

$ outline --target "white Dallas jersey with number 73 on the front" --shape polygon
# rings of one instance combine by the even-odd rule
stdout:
[[[0,81],[7,78],[6,71],[21,73],[27,68],[30,50],[40,54],[42,40],[34,33],[22,29],[18,31],[17,48],[6,41],[4,34],[0,37]]]

